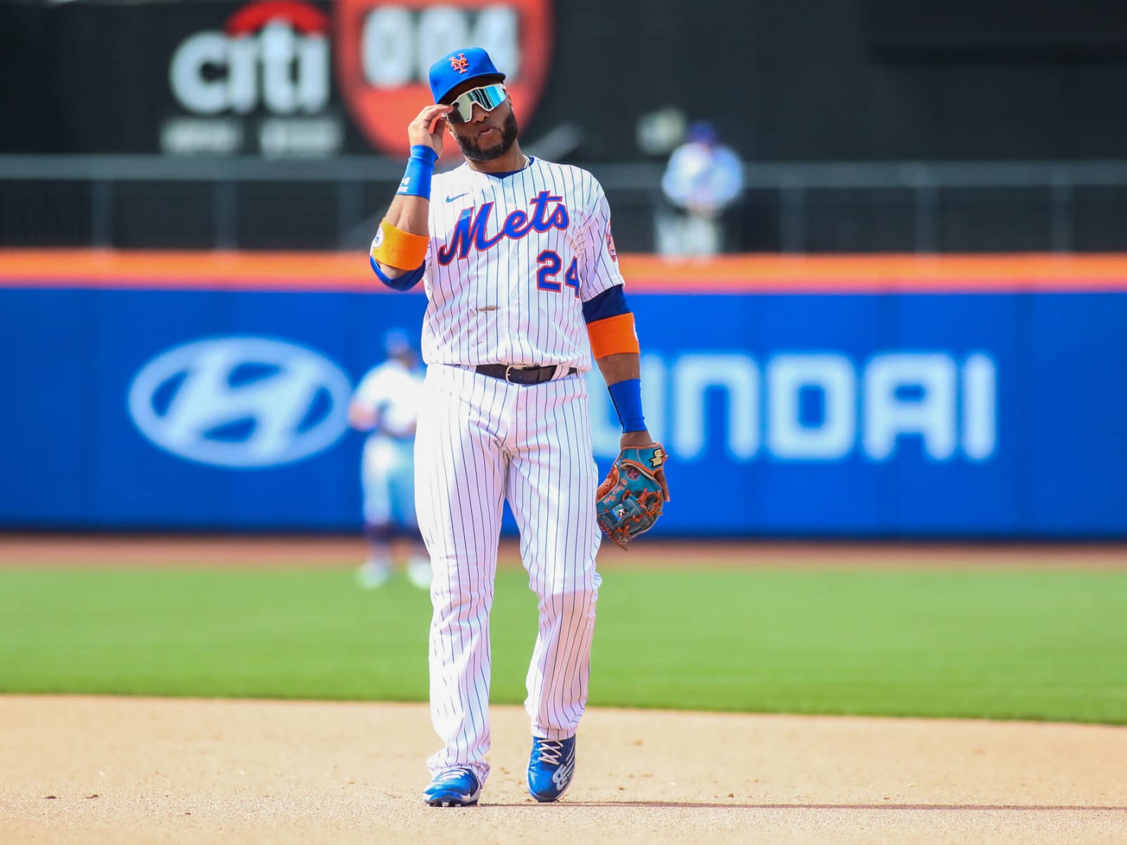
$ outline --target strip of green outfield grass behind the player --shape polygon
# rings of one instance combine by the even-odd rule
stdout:
[[[1127,571],[611,570],[593,705],[1127,723]],[[343,570],[0,569],[0,692],[426,699],[427,596]],[[495,702],[535,637],[497,579]]]

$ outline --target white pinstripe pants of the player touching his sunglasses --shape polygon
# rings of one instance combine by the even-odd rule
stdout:
[[[539,597],[529,666],[532,731],[575,735],[587,702],[600,577],[597,470],[586,382],[509,384],[432,365],[415,438],[416,505],[431,553],[431,718],[443,741],[427,765],[489,764],[489,611],[502,502],[521,531],[521,558]]]

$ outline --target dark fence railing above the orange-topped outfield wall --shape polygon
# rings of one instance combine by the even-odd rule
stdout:
[[[662,164],[588,164],[619,248],[651,251]],[[0,155],[0,247],[364,248],[399,160]],[[1127,251],[1127,161],[748,163],[743,252]]]

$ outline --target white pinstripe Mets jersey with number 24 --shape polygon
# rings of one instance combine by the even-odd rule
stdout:
[[[591,368],[583,303],[622,284],[594,176],[531,159],[492,176],[434,176],[423,359]]]

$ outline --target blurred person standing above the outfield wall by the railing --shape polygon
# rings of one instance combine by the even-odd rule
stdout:
[[[724,211],[743,189],[744,166],[736,152],[719,143],[712,124],[692,124],[662,177],[662,190],[676,212],[658,219],[658,251],[668,256],[720,252]]]

